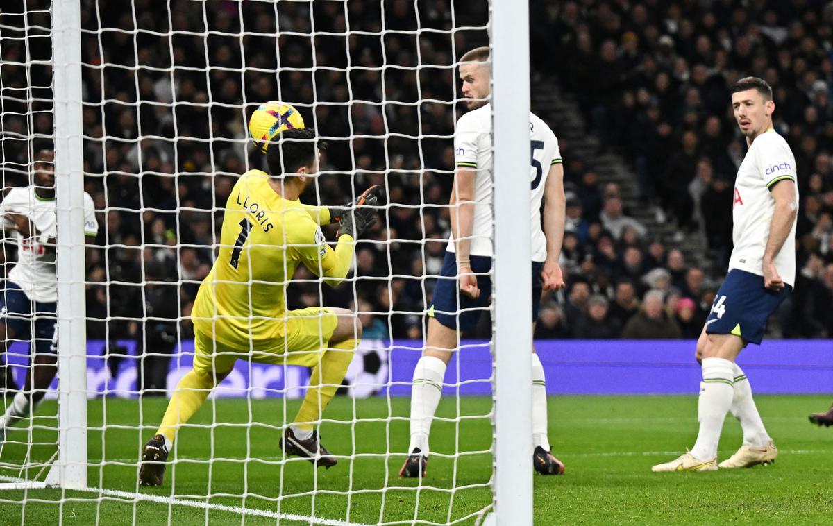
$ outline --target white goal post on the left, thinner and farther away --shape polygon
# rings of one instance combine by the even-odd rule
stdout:
[[[87,308],[80,0],[52,2],[58,457],[47,484],[87,488]]]

